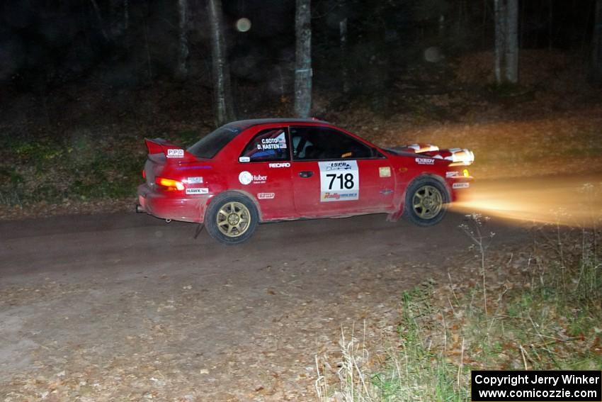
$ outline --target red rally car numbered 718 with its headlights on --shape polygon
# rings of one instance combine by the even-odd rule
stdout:
[[[434,225],[470,186],[475,159],[459,148],[381,148],[324,121],[282,118],[228,123],[186,150],[146,144],[137,211],[204,223],[226,244],[273,220],[387,213]]]

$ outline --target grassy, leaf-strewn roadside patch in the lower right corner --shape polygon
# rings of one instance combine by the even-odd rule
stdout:
[[[487,254],[484,220],[470,216],[462,230],[477,255],[468,279],[404,292],[386,362],[363,367],[343,353],[339,382],[318,378],[321,401],[468,401],[471,369],[602,367],[596,225],[541,226],[532,244]],[[368,385],[352,390],[346,367]]]

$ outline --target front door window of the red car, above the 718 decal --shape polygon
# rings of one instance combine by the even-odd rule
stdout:
[[[370,147],[340,131],[324,127],[291,127],[293,160],[337,160],[372,157]]]

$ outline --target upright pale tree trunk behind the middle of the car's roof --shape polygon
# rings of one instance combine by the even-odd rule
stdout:
[[[295,115],[309,117],[312,107],[312,14],[309,0],[297,0],[295,12]]]

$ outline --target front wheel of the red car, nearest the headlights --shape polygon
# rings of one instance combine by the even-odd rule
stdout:
[[[445,216],[449,201],[448,191],[441,182],[433,177],[418,177],[406,190],[404,218],[414,225],[436,225]]]

